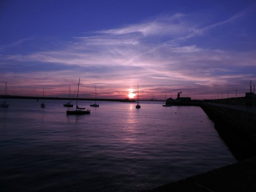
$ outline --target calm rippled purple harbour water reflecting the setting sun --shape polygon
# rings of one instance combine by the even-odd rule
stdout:
[[[1,191],[139,191],[236,162],[200,107],[163,102],[8,100],[0,108]]]

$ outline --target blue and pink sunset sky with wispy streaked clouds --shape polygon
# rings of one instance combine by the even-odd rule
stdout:
[[[246,0],[3,0],[0,94],[68,97],[81,77],[81,98],[244,96],[255,20]]]

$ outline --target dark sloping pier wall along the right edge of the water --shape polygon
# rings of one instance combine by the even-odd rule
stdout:
[[[256,110],[245,106],[201,103],[214,128],[238,161],[256,156]]]

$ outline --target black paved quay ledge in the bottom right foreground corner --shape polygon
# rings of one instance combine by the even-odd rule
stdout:
[[[256,191],[256,157],[227,165],[147,192]]]

